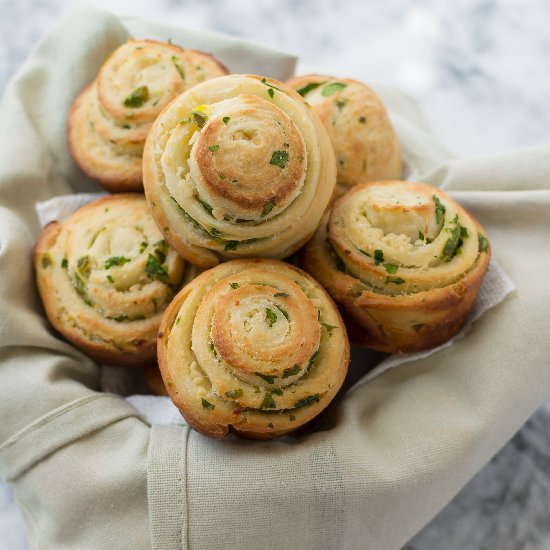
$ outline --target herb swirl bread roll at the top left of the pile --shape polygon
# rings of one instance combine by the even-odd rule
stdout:
[[[69,114],[69,150],[82,171],[112,192],[142,189],[145,138],[183,90],[227,74],[212,56],[154,40],[129,40],[107,59]]]

